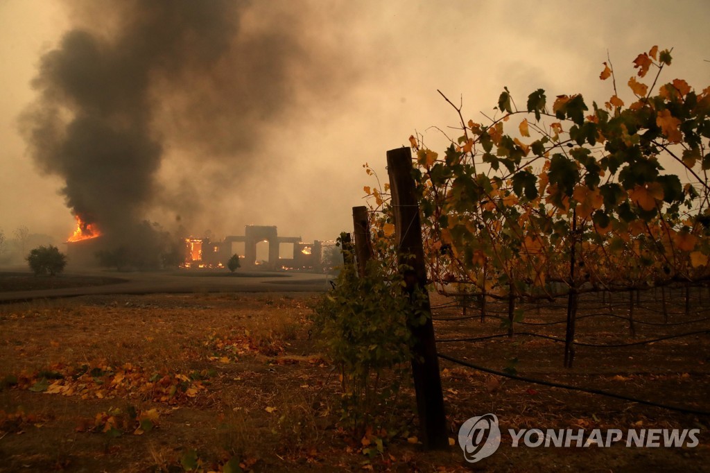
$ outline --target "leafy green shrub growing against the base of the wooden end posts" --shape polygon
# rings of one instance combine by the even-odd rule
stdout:
[[[411,309],[399,273],[376,260],[364,277],[346,263],[316,305],[315,335],[341,371],[342,420],[356,437],[388,423],[412,359],[410,325],[425,320]]]

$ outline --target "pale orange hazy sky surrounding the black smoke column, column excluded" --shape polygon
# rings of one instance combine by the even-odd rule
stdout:
[[[59,193],[65,182],[40,172],[18,115],[38,98],[31,81],[40,58],[67,31],[87,28],[108,41],[118,34],[121,18],[111,7],[110,1],[0,0],[6,235],[24,225],[62,241],[74,227]],[[455,125],[457,116],[437,89],[455,102],[462,97],[474,121],[491,111],[503,86],[518,104],[540,87],[547,97],[581,92],[589,103],[604,102],[612,93],[599,80],[607,51],[621,87],[634,73],[635,55],[652,45],[674,48],[662,83],[682,77],[702,89],[710,85],[708,18],[707,0],[254,1],[239,9],[241,36],[231,43],[238,51],[226,56],[231,64],[204,72],[205,82],[199,68],[190,70],[180,89],[151,85],[150,132],[163,151],[154,175],[159,191],[141,209],[166,228],[180,215],[195,236],[273,224],[283,236],[334,239],[351,228],[351,207],[373,184],[364,163],[386,180],[386,151],[408,143],[415,131],[443,148],[430,127]],[[265,37],[268,44],[249,42]],[[253,58],[242,67],[249,51]],[[252,85],[275,75],[278,90]],[[229,93],[219,89],[215,100],[210,87],[219,84]],[[244,105],[246,97],[234,91],[257,104]],[[210,107],[200,108],[205,101]]]

